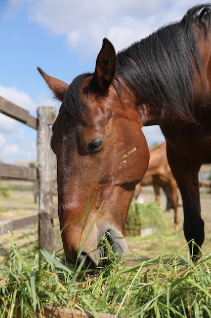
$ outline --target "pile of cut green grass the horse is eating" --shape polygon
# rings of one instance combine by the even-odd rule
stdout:
[[[163,245],[167,236],[163,239]],[[105,244],[108,244],[106,242]],[[33,262],[16,244],[0,265],[0,317],[42,316],[44,305],[116,314],[116,317],[211,317],[211,255],[197,263],[177,255],[162,255],[133,267],[111,255],[97,277],[85,278],[65,264],[63,255],[37,252]],[[31,264],[31,265],[29,265]],[[181,265],[183,264],[183,265]]]

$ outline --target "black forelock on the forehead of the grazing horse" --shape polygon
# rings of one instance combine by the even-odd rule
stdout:
[[[81,101],[80,93],[83,81],[92,75],[92,73],[78,75],[68,88],[64,99],[64,105],[72,117],[80,118],[81,114],[87,110],[87,105]]]

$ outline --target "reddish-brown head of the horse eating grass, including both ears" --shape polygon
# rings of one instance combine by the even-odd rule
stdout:
[[[118,79],[115,50],[106,39],[94,74],[79,75],[70,85],[38,70],[62,102],[51,147],[64,250],[72,263],[95,269],[103,265],[105,233],[114,252],[126,252],[126,216],[149,162],[140,116],[133,94]]]

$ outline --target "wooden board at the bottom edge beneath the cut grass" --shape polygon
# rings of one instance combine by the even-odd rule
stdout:
[[[72,308],[44,307],[45,318],[94,318],[88,311],[80,311]],[[114,314],[97,312],[98,318],[114,318]]]

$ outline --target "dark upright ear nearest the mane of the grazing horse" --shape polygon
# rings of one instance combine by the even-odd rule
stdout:
[[[113,45],[103,39],[103,45],[96,60],[95,73],[91,81],[91,89],[106,92],[116,72],[116,53]]]

